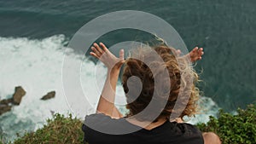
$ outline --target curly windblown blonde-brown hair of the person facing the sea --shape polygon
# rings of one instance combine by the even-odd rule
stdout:
[[[122,85],[125,90],[127,101],[126,108],[129,110],[127,116],[136,116],[137,113],[142,112],[143,109],[148,106],[154,95],[154,77],[163,74],[165,69],[167,69],[169,73],[170,80],[162,78],[161,85],[165,87],[165,85],[170,85],[165,83],[171,82],[171,88],[163,89],[163,91],[168,91],[169,94],[167,95],[169,95],[169,97],[165,107],[162,108],[160,115],[154,119],[154,122],[159,118],[170,119],[172,113],[176,113],[177,118],[195,115],[197,112],[196,101],[199,97],[199,89],[195,87],[195,84],[198,81],[198,75],[193,69],[193,66],[189,65],[185,56],[177,57],[173,48],[167,47],[166,45],[154,46],[153,49],[163,60],[162,62],[155,61],[155,55],[148,52],[150,50],[141,48],[131,51],[132,57],[125,60]],[[143,60],[146,59],[149,60],[148,64],[143,62]],[[149,68],[149,66],[151,68]],[[152,67],[154,70],[152,70]],[[137,84],[132,84],[132,81],[128,88],[127,81],[132,76],[140,78],[142,82],[142,90],[138,96],[128,93],[129,89],[137,89]],[[131,88],[132,86],[135,88]],[[155,101],[161,101],[162,99],[161,95],[156,95]],[[180,99],[181,102],[179,102],[179,106],[174,109],[177,99]],[[150,113],[140,115],[136,118],[140,121],[148,121],[150,119]]]

